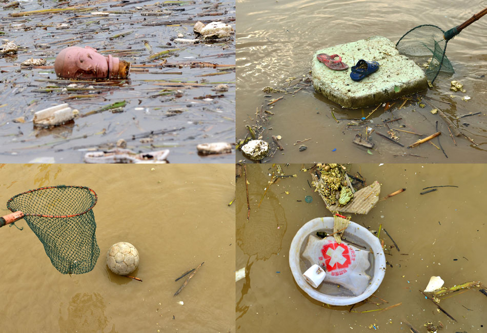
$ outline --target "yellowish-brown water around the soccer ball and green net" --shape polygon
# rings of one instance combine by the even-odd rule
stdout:
[[[154,170],[151,170],[151,169]],[[2,332],[234,332],[234,166],[0,165],[1,215],[17,193],[88,186],[100,257],[83,275],[62,275],[24,220],[0,228]],[[211,209],[210,209],[211,208]],[[132,243],[138,282],[109,271],[106,252]],[[8,254],[6,254],[8,253]],[[182,273],[205,262],[178,296]],[[179,302],[184,302],[183,305]]]

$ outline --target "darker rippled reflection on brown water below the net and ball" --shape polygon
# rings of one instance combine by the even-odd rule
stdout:
[[[105,309],[98,292],[78,292],[67,307],[64,303],[59,305],[59,332],[116,333],[115,324],[109,325]]]

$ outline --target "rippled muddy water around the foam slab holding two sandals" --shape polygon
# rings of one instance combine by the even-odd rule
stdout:
[[[365,129],[363,126],[347,124],[351,119],[367,116],[375,106],[357,110],[342,109],[316,93],[312,86],[305,87],[294,95],[287,94],[283,100],[267,106],[267,103],[283,93],[266,94],[261,91],[266,86],[286,88],[286,80],[290,77],[299,79],[302,75],[307,75],[311,70],[311,57],[318,49],[358,41],[373,35],[388,37],[396,43],[404,33],[421,24],[433,24],[448,30],[487,7],[487,2],[476,0],[468,5],[459,6],[455,1],[425,3],[419,0],[279,0],[269,3],[246,0],[238,1],[237,7],[236,137],[245,137],[248,133],[245,125],[255,125],[257,121],[265,128],[261,133],[262,140],[272,143],[272,135],[281,135],[280,143],[285,150],[277,151],[274,158],[264,161],[302,163],[321,161],[323,158],[352,163],[487,161],[487,44],[483,33],[487,29],[485,17],[465,28],[448,43],[447,56],[455,68],[455,74],[439,76],[433,89],[420,92],[442,102],[423,99],[424,108],[420,108],[416,102],[408,102],[399,109],[403,101],[392,101],[395,104],[389,110],[384,111],[381,106],[368,119],[371,121],[368,126],[386,133],[383,121],[402,118],[390,123],[390,127],[424,135],[435,133],[438,121],[438,131],[442,132],[439,140],[448,159],[441,150],[429,143],[407,149],[418,136],[400,131],[396,134],[399,136],[399,142],[405,147],[395,145],[375,133],[372,134],[375,143],[375,147],[370,149],[372,154],[367,152],[367,148],[352,143],[354,135],[364,135]],[[450,91],[452,80],[463,83],[466,93]],[[296,83],[298,80],[292,81],[288,91],[304,87],[297,85],[293,88]],[[455,97],[452,98],[450,95]],[[462,101],[464,95],[470,96],[471,100]],[[447,114],[449,119],[479,146],[474,146],[463,137],[455,137],[455,145],[443,120],[438,115],[430,113],[433,106],[424,102],[425,100]],[[264,105],[264,110],[268,109],[274,113],[269,115],[262,112],[267,122],[255,114],[256,109],[260,112],[261,105]],[[335,113],[339,123],[335,122],[331,111]],[[478,111],[481,114],[456,119],[457,116]],[[405,127],[399,127],[401,125]],[[311,140],[303,143],[308,149],[300,152],[300,144],[294,143],[309,138]],[[439,146],[438,139],[433,140],[433,143]],[[336,150],[333,151],[334,149]],[[237,160],[242,158],[241,153],[237,152]]]

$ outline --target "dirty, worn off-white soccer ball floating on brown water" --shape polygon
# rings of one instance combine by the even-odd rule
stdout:
[[[130,243],[113,244],[107,252],[107,265],[117,275],[127,275],[137,268],[138,251]]]

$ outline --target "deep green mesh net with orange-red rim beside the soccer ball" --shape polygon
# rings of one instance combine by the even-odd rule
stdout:
[[[88,187],[58,185],[17,194],[7,208],[24,213],[58,271],[82,274],[93,269],[100,254],[92,210],[96,201]]]

